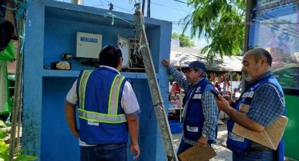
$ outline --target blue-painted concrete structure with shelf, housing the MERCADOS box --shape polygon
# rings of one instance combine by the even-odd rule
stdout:
[[[51,62],[62,61],[61,54],[75,56],[76,32],[103,35],[103,46],[117,45],[117,35],[135,37],[133,15],[113,12],[127,20],[107,17],[108,10],[58,1],[28,0],[24,47],[23,139],[22,145],[40,160],[79,160],[77,138],[65,121],[64,101],[68,90],[87,59],[72,59],[70,71],[51,70]],[[132,6],[133,7],[133,6]],[[160,83],[165,107],[168,104],[168,75],[161,63],[169,59],[171,22],[145,19],[151,41],[153,64]],[[153,111],[146,73],[122,72],[132,78],[132,86],[141,107],[139,117],[139,160],[165,160],[163,141]],[[129,155],[129,160],[132,157]]]

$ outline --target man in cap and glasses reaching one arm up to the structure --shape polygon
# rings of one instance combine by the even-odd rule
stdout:
[[[215,87],[208,81],[203,62],[194,61],[182,68],[186,77],[177,71],[170,62],[163,59],[174,80],[186,92],[184,97],[184,132],[177,155],[191,146],[207,146],[216,142],[219,113],[210,90]]]

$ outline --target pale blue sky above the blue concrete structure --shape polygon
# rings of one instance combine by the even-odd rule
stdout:
[[[70,2],[70,0],[58,0]],[[122,13],[134,14],[134,3],[141,2],[142,0],[82,0],[82,5],[92,6],[96,8],[109,9],[109,3],[113,3],[113,10]],[[179,34],[183,31],[184,25],[178,25],[180,20],[184,19],[186,15],[189,15],[193,11],[192,6],[188,6],[186,0],[151,0],[151,18],[159,20],[167,20],[172,22],[172,33],[177,32]],[[147,0],[145,4],[144,15],[146,15]],[[189,36],[190,29],[188,29],[185,35]],[[204,38],[194,38],[196,47],[203,48],[206,45]]]

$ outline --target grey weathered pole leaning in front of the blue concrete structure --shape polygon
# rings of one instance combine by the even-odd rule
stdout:
[[[160,134],[163,140],[164,150],[166,153],[166,160],[176,161],[178,159],[174,151],[172,135],[170,133],[170,125],[168,124],[167,116],[165,113],[165,106],[161,97],[158,79],[155,75],[153,59],[151,58],[151,50],[148,45],[148,39],[146,38],[146,30],[144,29],[144,16],[142,15],[139,8],[135,10],[134,22],[136,28],[136,36],[139,40],[139,44],[144,45],[144,47],[141,47],[139,50],[141,51],[142,59],[144,61],[144,68],[146,69],[146,77],[148,78],[148,85],[151,91],[151,98],[153,99],[153,108],[155,109],[155,116],[157,118],[157,123],[160,127]]]

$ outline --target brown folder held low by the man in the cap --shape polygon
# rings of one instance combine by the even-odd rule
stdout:
[[[216,153],[214,149],[210,146],[192,146],[183,153],[179,154],[179,159],[182,161],[198,161],[198,160],[210,160],[215,157]]]

